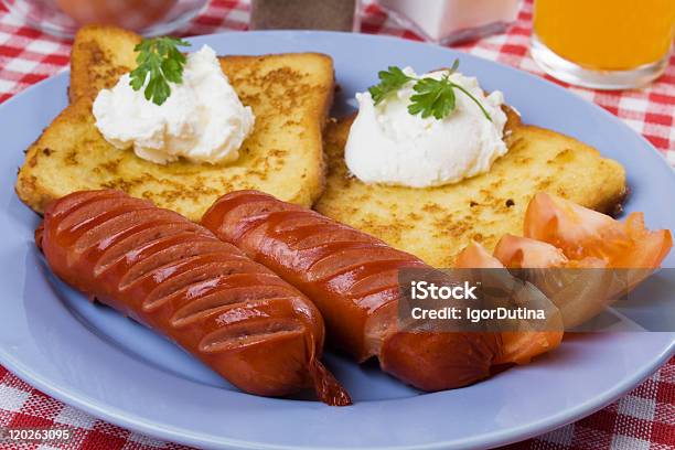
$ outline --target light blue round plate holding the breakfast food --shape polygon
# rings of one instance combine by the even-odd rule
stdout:
[[[675,210],[663,207],[664,193],[675,192],[675,176],[658,153],[610,114],[524,72],[439,46],[360,34],[247,32],[192,42],[219,54],[328,53],[342,86],[336,113],[349,111],[354,93],[373,84],[387,65],[424,72],[459,57],[462,72],[476,75],[488,90],[503,90],[526,122],[574,136],[624,164],[631,185],[628,211],[644,211],[651,227],[675,225]],[[674,333],[576,335],[534,364],[436,394],[403,386],[373,364],[358,367],[328,355],[354,406],[242,394],[157,334],[87,302],[42,262],[33,245],[39,218],[17,199],[13,183],[23,150],[66,106],[67,84],[68,75],[61,74],[0,106],[0,362],[94,416],[206,448],[486,448],[551,430],[603,407],[675,350]],[[666,266],[675,266],[675,254]],[[672,304],[675,289],[667,282],[641,292],[645,302]]]

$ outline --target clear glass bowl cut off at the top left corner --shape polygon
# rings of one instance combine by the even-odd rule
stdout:
[[[146,36],[184,26],[208,0],[0,0],[30,26],[71,39],[81,25],[107,23]]]

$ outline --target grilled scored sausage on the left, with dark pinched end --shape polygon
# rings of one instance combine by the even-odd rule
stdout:
[[[210,231],[118,191],[54,202],[35,242],[61,279],[159,331],[242,390],[313,387],[351,403],[319,361],[323,321],[296,288]]]

